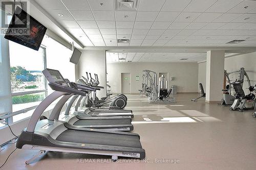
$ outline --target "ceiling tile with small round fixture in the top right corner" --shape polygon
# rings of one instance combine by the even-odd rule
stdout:
[[[247,8],[244,8],[247,7]],[[243,1],[236,7],[228,11],[228,13],[247,13],[256,8],[256,1]]]

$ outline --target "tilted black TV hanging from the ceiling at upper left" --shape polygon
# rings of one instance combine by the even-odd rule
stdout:
[[[35,18],[17,7],[5,38],[38,51],[46,30]]]

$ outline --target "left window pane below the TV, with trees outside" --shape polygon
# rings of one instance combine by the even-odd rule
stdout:
[[[12,122],[31,116],[30,112],[46,98],[46,48],[38,51],[9,41]],[[19,114],[23,113],[23,114]],[[27,114],[26,114],[27,113]]]

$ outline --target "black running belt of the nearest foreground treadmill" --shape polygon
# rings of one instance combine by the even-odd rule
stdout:
[[[77,130],[66,130],[56,140],[65,142],[103,144],[119,147],[142,148],[138,136],[111,134],[103,132],[88,132]]]

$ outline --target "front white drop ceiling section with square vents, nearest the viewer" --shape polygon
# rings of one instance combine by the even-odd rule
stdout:
[[[256,1],[140,0],[132,11],[116,0],[35,1],[84,46],[256,46]],[[246,41],[226,44],[234,39]]]

